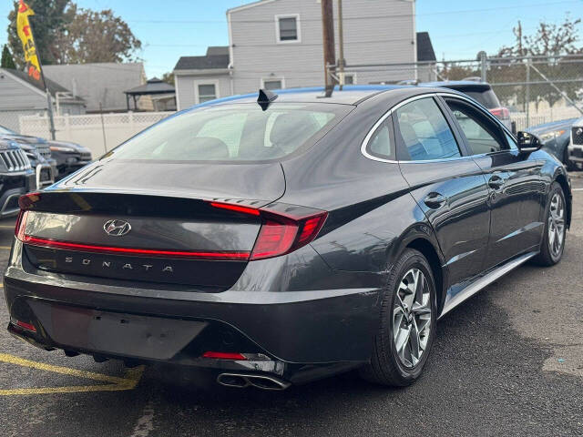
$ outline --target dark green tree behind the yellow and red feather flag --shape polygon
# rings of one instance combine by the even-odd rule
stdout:
[[[73,19],[71,8],[73,4],[70,0],[28,0],[26,4],[35,11],[35,15],[30,16],[30,23],[41,63],[46,65],[58,63],[59,49],[56,46],[56,39]],[[15,1],[13,10],[8,14],[8,46],[14,54],[16,66],[24,68],[25,54],[16,33],[17,12],[18,2]]]

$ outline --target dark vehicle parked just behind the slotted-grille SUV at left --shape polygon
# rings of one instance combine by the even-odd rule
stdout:
[[[32,168],[36,171],[37,188],[45,188],[55,182],[58,173],[56,160],[51,156],[46,139],[20,135],[3,126],[0,126],[0,138],[16,143],[25,151]]]

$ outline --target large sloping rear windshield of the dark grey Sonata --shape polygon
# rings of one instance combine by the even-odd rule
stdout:
[[[256,104],[201,107],[151,127],[113,151],[115,158],[258,161],[312,146],[353,107]]]

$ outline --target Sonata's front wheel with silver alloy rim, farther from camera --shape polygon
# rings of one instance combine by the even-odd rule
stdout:
[[[563,257],[567,228],[567,204],[563,188],[554,182],[548,194],[545,233],[540,245],[540,253],[534,259],[541,266],[553,266]]]

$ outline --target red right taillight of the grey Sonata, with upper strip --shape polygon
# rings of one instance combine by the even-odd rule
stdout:
[[[251,261],[279,257],[300,249],[318,236],[328,217],[326,211],[316,212],[307,208],[302,214],[289,214],[273,209],[255,209],[225,203],[213,202],[210,205],[261,217],[261,230],[251,250]],[[230,206],[237,208],[229,208]],[[253,212],[244,209],[251,209]]]

